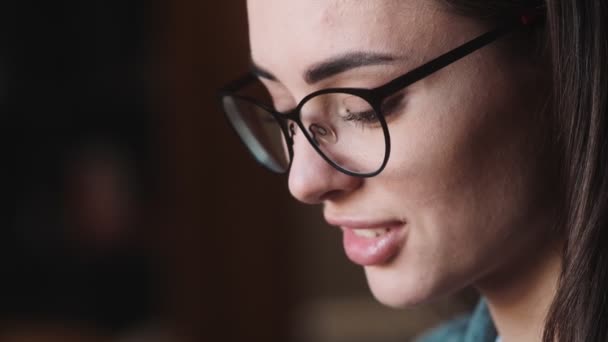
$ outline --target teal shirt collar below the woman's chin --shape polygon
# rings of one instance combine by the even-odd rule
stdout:
[[[416,342],[495,342],[496,335],[488,306],[481,300],[472,314],[450,321]]]

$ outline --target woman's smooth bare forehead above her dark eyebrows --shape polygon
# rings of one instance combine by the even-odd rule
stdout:
[[[252,59],[273,71],[358,51],[409,55],[445,16],[430,0],[249,0],[248,11]]]

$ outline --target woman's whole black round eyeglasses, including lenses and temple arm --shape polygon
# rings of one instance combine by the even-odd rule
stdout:
[[[250,72],[219,91],[222,107],[249,152],[271,171],[289,171],[297,125],[334,168],[351,176],[372,177],[382,172],[389,159],[387,120],[403,110],[404,94],[400,91],[521,24],[496,28],[377,88],[315,91],[288,112],[274,109],[264,85]]]

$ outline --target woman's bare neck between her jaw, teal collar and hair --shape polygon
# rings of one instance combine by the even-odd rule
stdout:
[[[542,340],[561,272],[562,244],[527,255],[478,283],[502,342]]]

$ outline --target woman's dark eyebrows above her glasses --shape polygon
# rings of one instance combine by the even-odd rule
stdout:
[[[376,52],[348,52],[331,57],[327,60],[314,64],[304,73],[306,83],[312,85],[343,72],[371,65],[385,65],[395,62],[398,58]],[[277,81],[277,77],[270,71],[251,61],[251,72],[253,74],[271,81]]]

